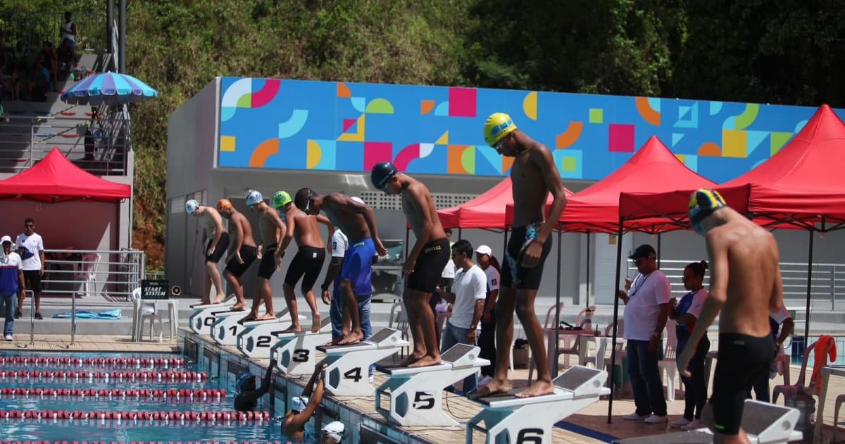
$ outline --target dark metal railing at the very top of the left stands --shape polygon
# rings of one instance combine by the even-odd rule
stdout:
[[[108,29],[106,14],[84,14],[71,11],[71,21],[76,25],[76,52],[108,51]],[[41,50],[42,41],[51,41],[53,47],[62,43],[60,27],[64,23],[64,12],[50,11],[2,11],[0,25],[6,36],[6,45],[14,47],[18,41],[24,47]]]

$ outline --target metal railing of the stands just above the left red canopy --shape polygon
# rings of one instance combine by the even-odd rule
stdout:
[[[57,147],[69,160],[89,173],[125,175],[128,172],[130,120],[124,107],[79,107],[57,116],[16,115],[0,125],[0,172],[19,173],[35,165]],[[72,115],[63,115],[72,114]]]

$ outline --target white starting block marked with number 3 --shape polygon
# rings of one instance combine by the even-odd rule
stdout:
[[[321,322],[321,330],[331,324],[329,318]],[[278,343],[270,350],[275,368],[286,375],[310,375],[317,364],[317,348],[331,341],[331,332],[275,333]]]

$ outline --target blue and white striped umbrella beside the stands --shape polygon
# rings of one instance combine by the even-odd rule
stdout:
[[[123,105],[148,101],[158,91],[128,74],[102,73],[80,80],[65,91],[62,100],[71,105]]]

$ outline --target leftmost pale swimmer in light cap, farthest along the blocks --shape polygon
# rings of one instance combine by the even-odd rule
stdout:
[[[205,281],[202,303],[220,304],[223,299],[226,299],[226,293],[223,292],[217,262],[226,254],[226,248],[229,247],[229,235],[223,228],[223,219],[217,210],[210,206],[201,206],[194,199],[185,202],[185,212],[198,218],[203,226],[203,255],[205,255],[205,271],[209,278]],[[211,285],[214,285],[217,293],[213,301],[210,295]]]

